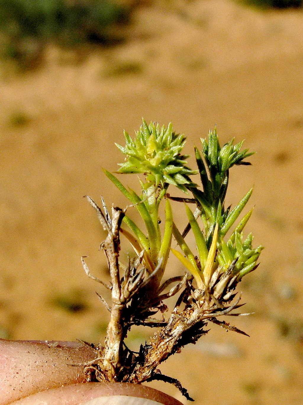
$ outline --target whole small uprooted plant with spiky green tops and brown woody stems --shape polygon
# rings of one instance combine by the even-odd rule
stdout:
[[[89,345],[95,350],[96,359],[85,370],[90,381],[163,380],[175,384],[191,400],[180,382],[162,375],[158,366],[184,345],[195,343],[205,335],[207,322],[246,335],[218,318],[228,314],[246,315],[233,312],[242,306],[240,296],[236,298],[236,287],[242,277],[257,268],[263,249],[252,247],[252,234],[246,237],[243,234],[252,209],[244,215],[242,211],[252,189],[234,208],[225,208],[229,170],[249,165],[247,158],[252,152],[242,149],[243,142],[234,144],[233,139],[221,147],[215,128],[210,130],[208,139],[201,139],[201,151],[195,148],[198,170],[192,170],[187,166],[189,156],[182,153],[185,136],[176,134],[171,124],[160,127],[152,122],[147,125],[143,120],[134,139],[127,132],[124,136],[126,145],[117,145],[125,156],[118,173],[139,175],[139,194],[105,170],[131,205],[127,209],[112,207],[110,214],[103,198],[101,209],[87,197],[107,232],[101,247],[107,257],[111,284],[93,276],[84,258],[82,264],[89,277],[110,290],[112,303],[109,305],[98,294],[110,312],[110,321],[105,343]],[[197,174],[200,186],[191,178]],[[185,197],[172,196],[174,189],[184,192]],[[173,209],[171,200],[181,205]],[[161,205],[164,205],[164,223]],[[189,205],[194,205],[194,213]],[[128,215],[132,207],[139,211],[143,227]],[[183,208],[188,225],[181,232],[178,213]],[[185,241],[190,231],[194,234],[196,250]],[[133,257],[127,263],[119,260],[120,237],[125,237],[133,248]],[[171,247],[173,237],[179,249]],[[186,272],[163,281],[170,254],[177,256]],[[174,309],[165,316],[164,301],[176,294]],[[158,316],[159,313],[162,315]],[[138,352],[125,344],[128,332],[135,325],[158,328]]]

